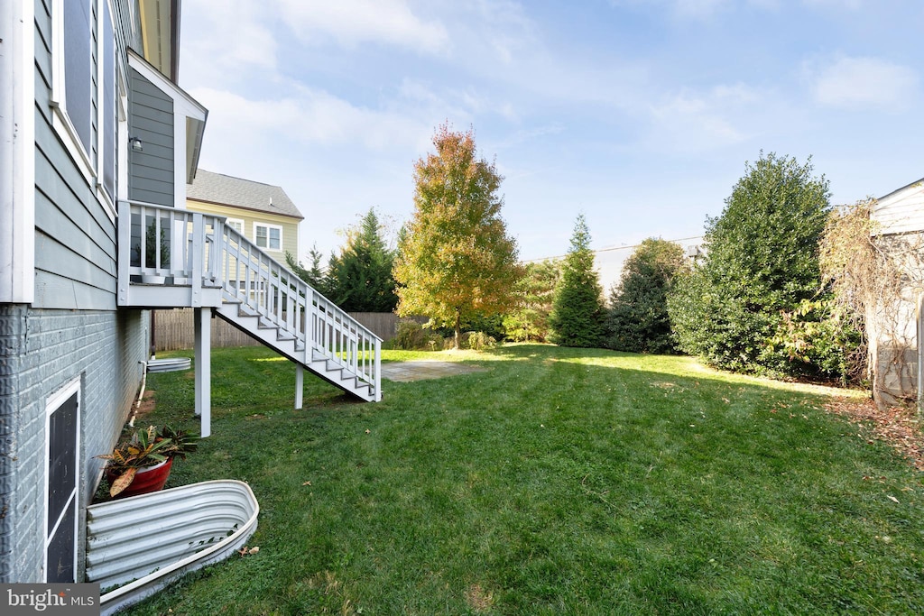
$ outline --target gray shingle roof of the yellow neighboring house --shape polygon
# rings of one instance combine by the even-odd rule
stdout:
[[[282,187],[214,174],[203,169],[196,173],[192,184],[186,186],[186,197],[217,205],[290,216],[298,220],[305,218]]]

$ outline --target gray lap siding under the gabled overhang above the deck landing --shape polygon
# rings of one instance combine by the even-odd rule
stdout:
[[[128,151],[128,199],[174,206],[173,101],[130,69],[128,132],[143,151]]]

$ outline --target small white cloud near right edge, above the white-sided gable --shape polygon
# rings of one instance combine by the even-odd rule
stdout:
[[[878,58],[845,57],[807,71],[815,101],[825,106],[898,112],[919,98],[914,70]]]

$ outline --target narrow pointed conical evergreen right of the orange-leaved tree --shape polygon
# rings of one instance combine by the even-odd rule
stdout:
[[[581,214],[577,216],[571,248],[562,267],[562,280],[555,291],[549,316],[550,339],[561,346],[600,346],[605,319],[600,279],[593,269],[590,230]]]

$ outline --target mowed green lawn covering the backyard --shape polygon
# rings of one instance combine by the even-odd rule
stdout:
[[[294,411],[291,364],[214,349],[213,436],[168,487],[249,482],[260,551],[129,613],[924,610],[921,476],[830,390],[545,345],[400,358],[486,369],[377,405],[306,375]],[[148,420],[196,425],[191,371],[149,383]]]

